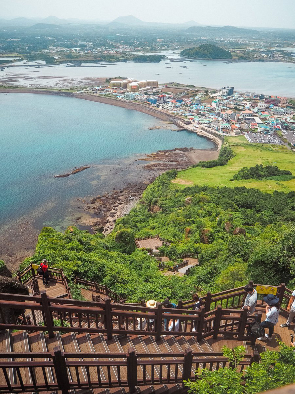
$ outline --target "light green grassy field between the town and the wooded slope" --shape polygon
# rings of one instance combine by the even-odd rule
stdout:
[[[184,171],[179,171],[173,182],[184,188],[191,185],[208,186],[246,186],[262,191],[272,192],[295,191],[295,178],[286,182],[276,180],[230,180],[243,167],[253,167],[255,164],[276,165],[280,169],[291,171],[295,176],[295,153],[284,147],[248,143],[244,136],[227,137],[225,141],[229,143],[236,156],[229,160],[228,164],[213,167],[195,167]]]

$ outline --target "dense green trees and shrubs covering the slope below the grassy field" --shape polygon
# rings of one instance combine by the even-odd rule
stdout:
[[[189,299],[194,286],[212,292],[256,283],[295,285],[295,192],[193,186],[179,189],[177,171],[158,177],[142,203],[118,219],[102,238],[74,228],[65,234],[44,228],[35,255],[63,268],[65,274],[106,284],[128,301],[166,296]],[[160,211],[152,213],[152,205]],[[238,228],[240,234],[234,235]],[[160,249],[171,259],[197,253],[199,266],[184,277],[164,276],[145,251],[135,250],[133,236],[160,234],[171,246]]]

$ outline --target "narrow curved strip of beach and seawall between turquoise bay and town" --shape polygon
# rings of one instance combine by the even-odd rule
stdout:
[[[109,105],[114,105],[118,107],[125,108],[127,110],[135,110],[138,112],[146,113],[147,115],[151,115],[153,117],[156,117],[162,121],[172,121],[175,125],[179,125],[181,128],[186,128],[189,131],[195,132],[197,135],[205,137],[207,139],[210,139],[213,141],[218,149],[220,149],[222,143],[223,143],[223,138],[219,134],[216,133],[209,133],[207,130],[192,130],[192,127],[190,125],[184,125],[182,124],[183,118],[173,115],[167,112],[163,112],[161,110],[155,109],[155,108],[149,108],[144,104],[140,104],[137,102],[129,102],[125,100],[120,100],[120,99],[114,99],[111,97],[102,97],[99,95],[89,95],[87,93],[72,93],[72,92],[64,92],[64,91],[55,91],[55,90],[44,90],[44,89],[30,89],[30,88],[0,88],[0,93],[34,93],[34,94],[48,94],[48,95],[56,95],[56,96],[63,96],[63,97],[75,97],[76,99],[83,99],[83,100],[89,100],[89,101],[94,101],[94,102],[100,102],[102,104],[109,104]]]

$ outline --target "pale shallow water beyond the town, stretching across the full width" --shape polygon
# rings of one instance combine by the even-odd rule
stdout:
[[[161,83],[179,82],[213,88],[229,85],[239,91],[295,97],[294,63],[227,63],[206,59],[184,61],[179,57],[179,52],[161,52],[174,61],[165,59],[160,63],[85,63],[76,66],[71,63],[40,65],[22,61],[15,63],[13,67],[0,69],[0,81],[3,84],[29,87],[77,86],[91,82],[99,84],[95,78],[120,75],[138,80],[157,79]]]

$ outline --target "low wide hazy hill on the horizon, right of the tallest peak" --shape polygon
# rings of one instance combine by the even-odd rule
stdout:
[[[223,37],[243,37],[259,35],[254,29],[243,29],[235,26],[191,26],[184,30],[187,33],[198,35],[223,35]]]

